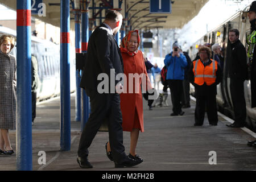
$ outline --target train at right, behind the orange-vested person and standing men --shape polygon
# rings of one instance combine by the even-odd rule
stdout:
[[[201,39],[197,40],[195,45],[190,48],[190,56],[191,59],[195,59],[196,53],[198,49],[196,45],[209,43],[213,45],[214,43],[218,43],[222,50],[224,51],[224,70],[223,70],[223,79],[221,84],[217,86],[217,103],[218,110],[225,115],[228,115],[231,118],[234,118],[233,113],[233,104],[230,95],[230,77],[228,75],[227,70],[229,69],[230,59],[227,56],[229,51],[230,42],[228,40],[228,32],[232,28],[237,28],[240,31],[240,40],[243,45],[246,47],[246,36],[250,34],[250,22],[244,11],[247,11],[249,6],[247,6],[242,11],[237,12],[224,23],[220,24],[218,27],[214,28],[212,31],[209,31],[206,35],[204,35]],[[247,60],[248,63],[248,60]],[[250,130],[256,132],[256,108],[251,108],[251,83],[250,80],[246,80],[244,82],[244,90],[245,90],[245,100],[246,100],[246,109],[247,109],[247,119],[246,119],[246,127]],[[193,94],[193,86],[192,94]]]

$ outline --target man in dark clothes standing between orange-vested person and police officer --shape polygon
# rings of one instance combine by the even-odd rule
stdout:
[[[234,108],[234,123],[229,127],[244,127],[246,119],[246,103],[243,91],[243,82],[247,76],[246,50],[240,42],[239,31],[234,28],[229,31],[231,43],[231,62],[229,67],[230,93]]]

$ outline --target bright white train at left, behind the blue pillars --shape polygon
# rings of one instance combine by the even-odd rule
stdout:
[[[16,31],[0,26],[0,36],[12,35],[16,39]],[[71,92],[76,89],[75,48],[71,47],[70,79]],[[16,57],[16,46],[11,51]],[[31,54],[38,60],[39,85],[37,100],[42,101],[60,94],[60,45],[42,40],[31,35]]]

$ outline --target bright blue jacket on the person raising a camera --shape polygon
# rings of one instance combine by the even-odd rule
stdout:
[[[166,55],[164,64],[167,67],[166,80],[184,80],[184,68],[188,63],[182,53],[180,53],[180,57],[172,57],[172,52]]]

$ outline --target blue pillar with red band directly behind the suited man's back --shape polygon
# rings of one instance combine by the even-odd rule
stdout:
[[[86,5],[87,7],[87,5]],[[85,8],[86,9],[86,8]],[[82,10],[82,52],[87,52],[87,45],[89,39],[89,18],[88,10]],[[89,118],[89,97],[86,96],[85,90],[82,89],[82,121],[81,130]]]

